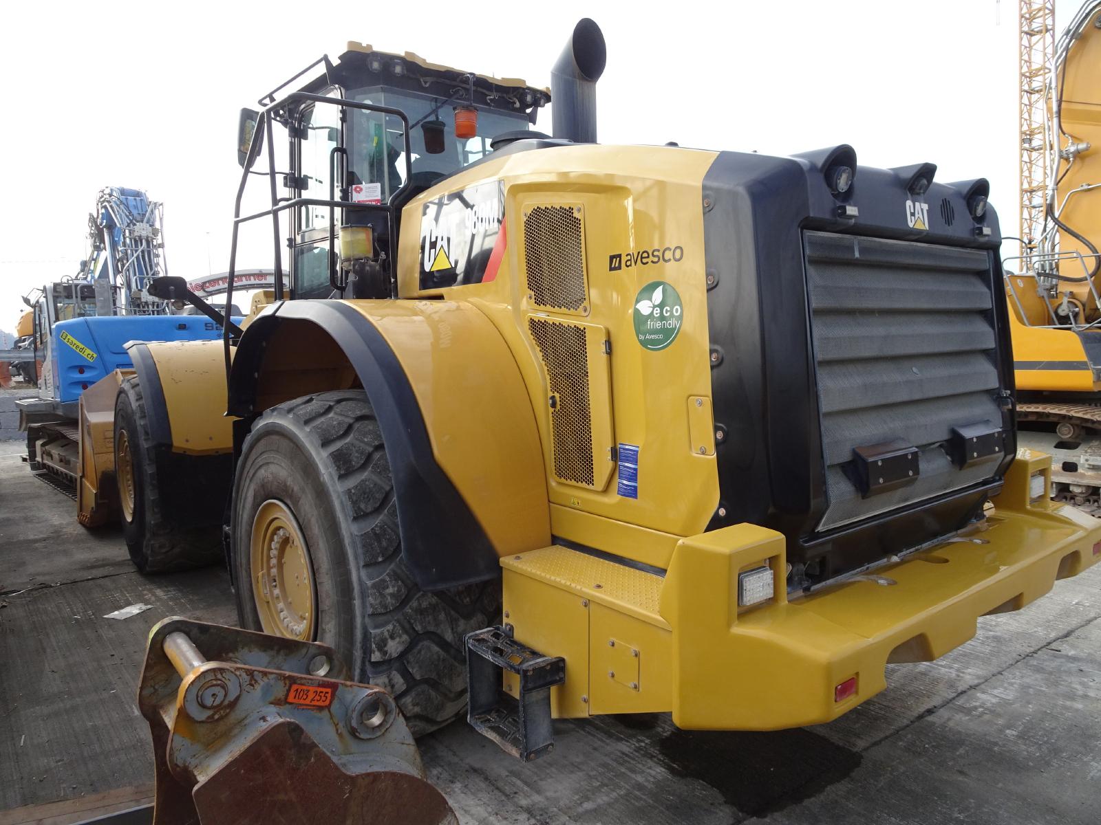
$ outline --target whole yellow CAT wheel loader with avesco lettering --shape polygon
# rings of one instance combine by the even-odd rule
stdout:
[[[985,180],[600,145],[603,67],[584,20],[553,136],[546,90],[359,44],[242,112],[233,255],[271,221],[288,289],[133,348],[89,494],[225,513],[244,627],[330,645],[416,733],[469,695],[523,759],[553,717],[830,721],[1101,558],[1016,451]]]

